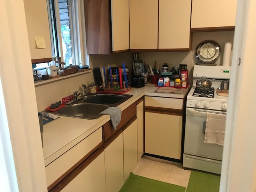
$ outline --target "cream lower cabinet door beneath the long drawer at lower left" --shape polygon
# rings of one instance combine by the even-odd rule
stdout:
[[[62,192],[105,192],[105,167],[104,153],[102,152],[93,162],[91,162],[76,178],[74,178]]]

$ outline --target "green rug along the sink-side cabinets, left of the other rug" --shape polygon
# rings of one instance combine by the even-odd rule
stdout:
[[[186,188],[134,175],[132,172],[119,192],[185,192]]]

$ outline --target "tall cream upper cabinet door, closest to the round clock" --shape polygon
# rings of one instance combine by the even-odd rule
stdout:
[[[191,0],[159,0],[159,49],[190,48]]]

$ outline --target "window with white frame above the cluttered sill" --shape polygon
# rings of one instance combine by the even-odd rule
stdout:
[[[47,1],[52,55],[60,57],[66,66],[86,65],[88,56],[86,54],[83,1]]]

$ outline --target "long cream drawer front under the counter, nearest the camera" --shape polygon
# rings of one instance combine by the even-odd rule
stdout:
[[[45,172],[47,186],[53,184],[58,178],[72,168],[72,166],[74,166],[101,142],[102,130],[99,128],[84,140],[76,144],[76,146],[46,166]]]

